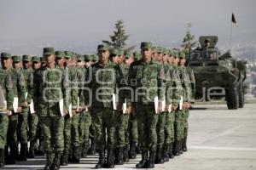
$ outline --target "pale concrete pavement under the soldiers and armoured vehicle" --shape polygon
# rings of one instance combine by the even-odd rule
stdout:
[[[116,169],[131,169],[132,160]],[[96,156],[82,159],[61,169],[92,169]],[[6,169],[42,169],[44,157],[18,162]],[[195,105],[189,117],[189,151],[155,169],[247,170],[256,169],[256,104],[244,109],[227,110],[226,105]]]

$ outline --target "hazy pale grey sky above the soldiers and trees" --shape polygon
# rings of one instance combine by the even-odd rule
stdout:
[[[182,41],[185,24],[191,32],[218,35],[219,46],[251,43],[256,38],[254,0],[1,0],[0,51],[41,54],[42,48],[92,53],[97,43],[108,39],[116,20],[125,21],[128,44],[152,41],[172,47]]]

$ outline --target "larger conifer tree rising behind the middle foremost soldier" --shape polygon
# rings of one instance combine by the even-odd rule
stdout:
[[[102,40],[103,43],[107,43],[112,48],[125,48],[125,41],[128,39],[129,35],[126,35],[124,29],[124,21],[117,20],[115,23],[115,31],[113,35],[110,36],[111,41]]]

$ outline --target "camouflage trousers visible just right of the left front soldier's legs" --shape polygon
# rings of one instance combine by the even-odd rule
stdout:
[[[63,139],[64,139],[64,150],[68,153],[71,144],[71,118],[69,114],[64,116],[64,129],[63,129]]]

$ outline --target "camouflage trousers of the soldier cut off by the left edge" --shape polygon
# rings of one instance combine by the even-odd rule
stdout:
[[[0,149],[4,149],[7,138],[9,118],[5,114],[0,114]]]

